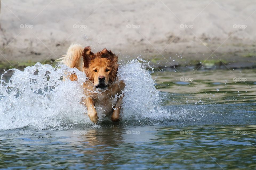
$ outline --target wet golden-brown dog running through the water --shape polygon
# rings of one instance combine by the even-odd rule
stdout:
[[[83,83],[85,98],[81,103],[86,105],[88,116],[93,123],[96,124],[99,120],[97,109],[105,116],[111,115],[113,122],[121,120],[125,83],[117,78],[119,64],[115,54],[106,48],[94,54],[89,46],[83,48],[72,44],[67,54],[57,61],[86,74],[88,80]],[[78,80],[75,73],[68,77],[71,81]]]

